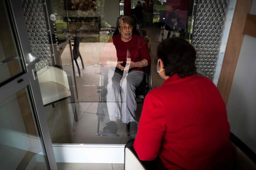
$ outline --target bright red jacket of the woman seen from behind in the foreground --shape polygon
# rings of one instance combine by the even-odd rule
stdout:
[[[212,81],[177,74],[145,98],[134,149],[166,169],[212,169],[232,159],[226,106]]]

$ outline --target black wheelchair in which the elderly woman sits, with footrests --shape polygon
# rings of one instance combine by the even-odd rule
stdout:
[[[133,31],[134,31],[133,34],[141,35],[146,41],[146,43],[149,42],[149,40],[147,39],[148,37],[147,37],[146,31],[138,30],[137,28],[135,28],[135,30]],[[116,35],[116,34],[119,34],[118,29],[114,32],[113,35]],[[141,99],[142,103],[147,93],[152,89],[151,65],[143,67],[143,71],[144,71],[144,78],[135,91],[136,99]],[[107,84],[108,84],[108,66],[101,66],[100,83],[99,83],[99,86],[97,87],[97,93],[99,93],[99,103],[98,103],[98,108],[96,113],[96,115],[98,116],[97,136],[107,136],[107,135],[119,136],[118,134],[100,131],[100,121],[105,116],[104,109],[107,108],[107,94],[108,94]],[[128,136],[130,136],[130,134],[128,134]]]

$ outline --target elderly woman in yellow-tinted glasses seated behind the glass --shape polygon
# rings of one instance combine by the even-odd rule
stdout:
[[[106,100],[110,122],[103,128],[103,135],[116,134],[119,119],[127,123],[129,134],[137,132],[135,90],[143,81],[143,67],[151,64],[144,39],[133,33],[135,22],[132,17],[119,17],[116,26],[119,31],[113,36],[116,59],[106,61],[108,66]]]

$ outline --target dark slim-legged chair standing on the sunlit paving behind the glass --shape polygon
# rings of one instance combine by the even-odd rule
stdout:
[[[74,40],[74,44],[72,44],[72,46],[74,46],[74,48],[73,48],[73,57],[74,57],[74,60],[76,62],[76,67],[77,67],[77,70],[78,70],[79,77],[81,76],[81,73],[80,73],[79,65],[77,63],[77,58],[78,57],[80,57],[81,62],[82,62],[82,67],[84,69],[84,62],[83,62],[82,56],[79,52],[79,44],[80,44],[80,39],[81,39],[81,33],[82,33],[82,27],[79,30],[76,30],[75,38],[72,38]]]

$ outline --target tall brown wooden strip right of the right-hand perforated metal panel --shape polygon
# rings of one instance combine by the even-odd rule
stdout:
[[[236,71],[236,64],[240,54],[241,46],[244,40],[244,24],[246,16],[252,8],[252,0],[237,0],[236,8],[229,32],[228,43],[218,81],[218,89],[225,103],[228,102],[228,96]]]

